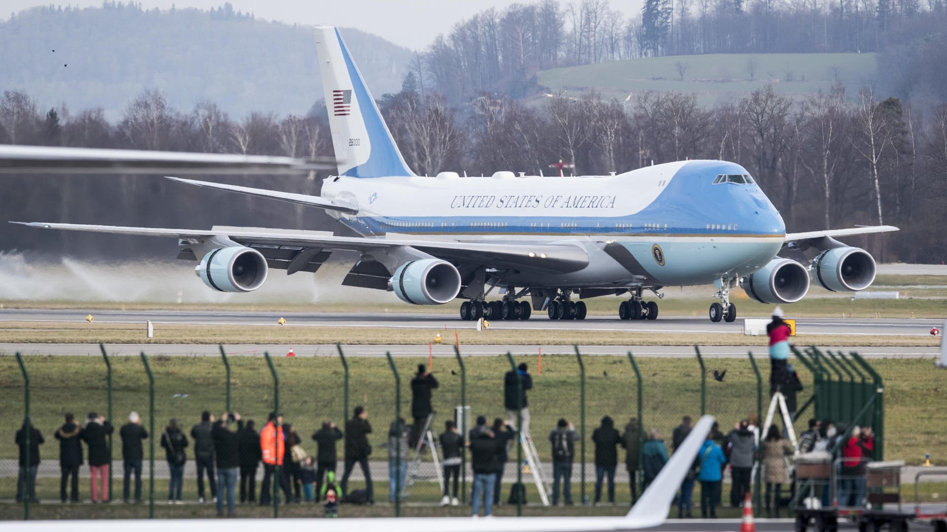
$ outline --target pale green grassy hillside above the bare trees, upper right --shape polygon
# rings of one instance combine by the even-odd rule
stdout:
[[[683,77],[679,63],[686,65]],[[875,54],[711,54],[554,68],[541,72],[538,80],[550,91],[597,88],[621,99],[645,90],[694,92],[712,105],[767,83],[777,93],[805,95],[829,89],[836,79],[852,88],[876,77]]]

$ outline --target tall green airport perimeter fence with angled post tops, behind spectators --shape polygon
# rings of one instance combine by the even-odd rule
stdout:
[[[284,416],[284,425],[292,425],[292,434],[298,435],[300,447],[314,460],[317,450],[313,433],[322,427],[324,421],[333,422],[344,431],[352,410],[363,406],[373,429],[368,440],[374,450],[369,456],[374,499],[383,503],[389,497],[389,427],[398,416],[406,423],[413,422],[410,381],[419,364],[429,369],[439,381],[433,392],[432,405],[437,414],[431,427],[437,440],[438,434],[444,431],[444,421],[455,419],[456,407],[461,404],[470,408],[470,417],[462,421],[464,433],[477,416],[487,417],[488,422],[494,418],[506,418],[504,374],[515,364],[526,363],[533,380],[532,389],[527,391],[530,433],[540,458],[540,464],[532,467],[544,468],[546,479],[551,483],[548,435],[556,427],[558,419],[572,422],[581,435],[580,441],[576,442],[572,477],[572,496],[576,504],[593,502],[596,468],[592,435],[602,417],[612,417],[619,433],[624,433],[627,425],[634,423],[639,443],[648,431],[656,429],[670,453],[671,434],[682,417],[691,417],[696,422],[703,414],[712,415],[717,418],[720,431],[727,434],[744,418],[754,419],[759,424],[770,403],[767,357],[748,353],[743,359],[706,359],[699,347],[695,347],[692,358],[659,359],[635,358],[631,352],[626,356],[582,356],[579,346],[575,346],[572,353],[563,347],[558,354],[537,352],[530,356],[509,356],[498,353],[496,357],[465,357],[462,346],[456,346],[453,357],[430,356],[430,352],[421,348],[417,358],[393,359],[389,355],[387,361],[347,358],[342,346],[338,346],[337,357],[228,353],[221,346],[222,356],[216,361],[208,357],[150,358],[146,353],[122,356],[116,349],[120,346],[101,346],[100,361],[90,357],[21,357],[17,354],[14,363],[12,357],[2,357],[7,362],[0,367],[0,392],[4,394],[4,407],[0,410],[0,501],[13,503],[17,492],[20,468],[14,433],[25,418],[30,419],[45,440],[39,446],[42,459],[35,468],[38,471],[36,494],[43,505],[60,504],[60,446],[54,434],[63,425],[63,416],[72,413],[80,424],[85,423],[89,413],[109,420],[115,430],[110,440],[109,493],[113,502],[120,503],[124,498],[124,463],[119,433],[122,425],[129,422],[130,412],[138,413],[141,426],[150,437],[143,442],[143,502],[140,506],[131,506],[137,509],[129,511],[132,517],[151,517],[154,505],[167,505],[169,500],[170,466],[161,441],[167,437],[165,428],[171,418],[177,419],[189,440],[182,499],[197,504],[197,467],[191,429],[200,423],[202,412],[208,411],[215,417],[237,412],[241,421],[253,419],[259,432],[266,424],[268,414],[278,411]],[[305,353],[299,349],[298,354]],[[809,417],[843,419],[849,416],[857,417],[865,424],[864,419],[870,418],[880,436],[878,439],[883,440],[883,418],[876,418],[883,415],[880,408],[883,405],[880,398],[882,387],[880,380],[873,380],[870,366],[864,360],[855,354],[848,357],[841,353],[826,355],[815,349],[796,351],[795,354],[801,363],[796,369],[804,384],[804,389],[797,395],[796,434],[805,429],[804,421]],[[851,378],[848,373],[842,373],[843,377],[831,373],[830,368],[841,372],[841,364],[847,364],[845,368],[852,372]],[[855,373],[853,368],[856,366],[868,371]],[[867,378],[860,377],[863,374]],[[869,393],[876,392],[879,397],[868,397]],[[863,401],[866,404],[863,405]],[[876,449],[881,447],[876,446]],[[82,448],[83,458],[87,459],[84,443]],[[336,482],[343,472],[344,440],[338,442],[337,449]],[[521,478],[527,485],[527,503],[538,504],[539,498],[531,485],[527,465],[517,464],[515,445],[509,451],[510,461],[503,477],[501,501],[506,502],[511,483]],[[287,446],[286,468],[297,470],[290,455]],[[625,470],[626,452],[619,449],[618,455],[616,501],[627,504],[631,500],[631,490]],[[465,461],[469,461],[466,454]],[[90,497],[89,472],[87,462],[84,462],[79,483],[82,501],[88,501]],[[253,475],[257,502],[261,497],[263,472],[260,464]],[[402,504],[438,505],[441,491],[429,452],[423,453],[417,472],[410,494],[395,498],[392,514],[399,515]],[[465,464],[461,476],[459,497],[467,503],[473,479],[469,463]],[[211,505],[209,482],[206,484],[205,504]],[[279,482],[271,484],[275,492],[279,486]],[[364,487],[364,477],[360,468],[355,466],[348,488]],[[290,488],[292,499],[296,496],[294,482],[290,482]],[[238,497],[239,491],[238,487]],[[602,491],[602,501],[605,501],[605,489]],[[758,502],[759,491],[759,488],[755,490]],[[304,498],[305,492],[300,491],[299,495]],[[134,499],[134,487],[130,488],[129,497]],[[272,505],[274,517],[278,517],[280,505],[287,504],[281,493],[276,499],[279,503]],[[28,519],[28,498],[22,505],[23,515]],[[521,508],[517,508],[519,513]],[[321,506],[313,505],[312,512],[313,515],[321,514]]]

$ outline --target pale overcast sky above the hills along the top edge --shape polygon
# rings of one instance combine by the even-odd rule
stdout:
[[[521,0],[519,3],[529,3]],[[580,0],[575,0],[576,2]],[[143,9],[200,8],[223,5],[224,0],[138,0]],[[48,0],[4,0],[2,15],[35,6],[48,6]],[[234,9],[249,11],[259,18],[289,24],[326,24],[357,27],[380,35],[395,44],[422,50],[438,36],[447,33],[456,22],[483,9],[504,9],[512,0],[230,0]],[[561,1],[563,8],[567,0]],[[101,0],[69,0],[63,5],[99,7]],[[640,9],[640,0],[616,0],[612,9],[626,16]]]

